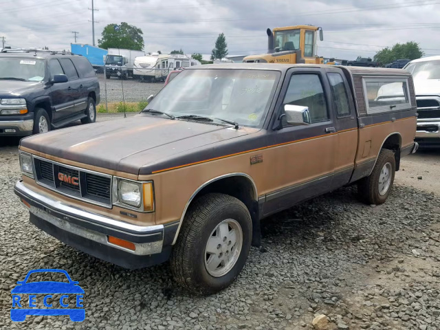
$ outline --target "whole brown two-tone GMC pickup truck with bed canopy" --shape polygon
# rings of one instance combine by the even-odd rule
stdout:
[[[15,192],[67,245],[127,268],[170,259],[199,294],[234,281],[270,214],[353,183],[384,203],[418,146],[399,69],[201,65],[150,101],[132,118],[21,140]]]

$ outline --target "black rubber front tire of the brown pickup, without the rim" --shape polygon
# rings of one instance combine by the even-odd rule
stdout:
[[[214,277],[206,269],[205,249],[208,239],[213,237],[213,230],[226,219],[234,219],[240,225],[243,233],[241,251],[228,272]],[[219,193],[203,195],[190,206],[173,247],[170,265],[175,281],[195,294],[219,292],[241,272],[248,259],[251,241],[252,219],[248,208],[239,199]],[[230,251],[232,255],[232,249]]]

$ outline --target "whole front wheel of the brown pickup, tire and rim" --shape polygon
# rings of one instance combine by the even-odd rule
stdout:
[[[252,220],[239,199],[203,195],[188,210],[173,248],[173,276],[192,293],[219,292],[241,272],[251,241]]]

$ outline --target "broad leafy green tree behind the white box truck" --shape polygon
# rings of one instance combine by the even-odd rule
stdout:
[[[115,26],[119,30],[115,30]],[[102,39],[98,39],[98,46],[107,50],[108,48],[124,48],[127,50],[142,50],[144,48],[144,38],[142,30],[134,25],[125,22],[109,24],[102,31]]]

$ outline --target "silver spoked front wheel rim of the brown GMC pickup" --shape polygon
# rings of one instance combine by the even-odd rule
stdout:
[[[234,219],[221,221],[212,230],[205,248],[206,271],[214,277],[228,274],[239,260],[243,230]]]

